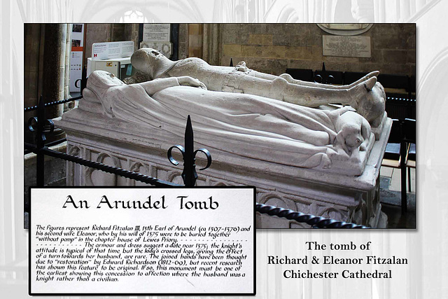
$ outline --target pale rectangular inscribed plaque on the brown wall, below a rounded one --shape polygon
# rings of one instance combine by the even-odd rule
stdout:
[[[323,56],[372,57],[370,36],[322,36]]]

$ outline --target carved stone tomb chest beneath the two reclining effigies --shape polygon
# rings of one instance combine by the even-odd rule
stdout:
[[[124,125],[97,113],[73,110],[57,125],[67,132],[68,153],[123,167],[174,183],[181,180],[181,166],[174,167],[167,159],[167,150],[174,144],[182,144],[183,138],[132,124]],[[90,119],[85,123],[85,119]],[[120,125],[121,124],[121,125]],[[386,127],[390,129],[391,123]],[[195,127],[193,127],[194,129]],[[135,134],[139,132],[139,134]],[[211,151],[211,168],[199,172],[198,185],[256,186],[257,201],[286,207],[304,213],[354,221],[376,226],[386,223],[378,201],[377,181],[382,153],[388,132],[376,141],[364,172],[360,176],[323,173],[316,169],[304,169],[272,162],[239,158],[223,151]],[[195,148],[202,144],[195,143]],[[178,158],[181,160],[180,158]],[[197,160],[197,165],[204,165]],[[141,183],[120,176],[106,174],[80,165],[67,165],[69,185],[126,185]],[[295,221],[258,216],[258,228],[302,228]],[[382,226],[382,227],[385,227]]]

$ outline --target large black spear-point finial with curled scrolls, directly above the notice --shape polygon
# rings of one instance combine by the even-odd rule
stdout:
[[[197,152],[202,152],[207,157],[207,165],[204,168],[201,168],[200,170],[204,170],[210,167],[211,165],[211,155],[210,152],[206,148],[200,148],[196,151],[194,151],[194,139],[193,139],[193,125],[191,124],[191,118],[188,116],[187,118],[187,125],[185,129],[185,148],[180,145],[172,146],[168,149],[168,159],[169,162],[172,163],[172,165],[179,165],[179,162],[177,162],[173,156],[172,151],[173,148],[179,149],[182,153],[183,158],[183,172],[182,172],[182,179],[185,186],[195,186],[196,180],[197,180],[197,172],[196,172],[196,154]]]

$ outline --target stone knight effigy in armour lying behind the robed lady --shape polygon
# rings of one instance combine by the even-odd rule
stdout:
[[[141,48],[131,57],[137,74],[130,83],[155,78],[191,76],[203,82],[209,90],[239,92],[278,99],[301,106],[317,107],[323,104],[351,105],[373,127],[383,119],[384,88],[377,83],[378,72],[372,72],[351,85],[332,86],[293,79],[288,74],[273,76],[248,69],[244,62],[236,67],[212,66],[197,57],[172,61],[153,48]]]

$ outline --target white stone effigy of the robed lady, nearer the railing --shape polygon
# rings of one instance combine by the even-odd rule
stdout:
[[[348,107],[327,111],[212,92],[185,76],[125,85],[96,71],[83,97],[80,109],[92,111],[87,104],[101,103],[109,118],[158,127],[179,138],[190,115],[197,141],[209,150],[339,174],[360,175],[374,142],[367,120]]]

